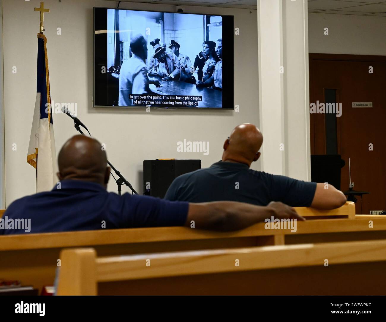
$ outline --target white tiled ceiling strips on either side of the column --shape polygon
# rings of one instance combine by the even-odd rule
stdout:
[[[257,0],[123,0],[122,2],[257,9]],[[308,0],[308,12],[386,17],[386,0]]]

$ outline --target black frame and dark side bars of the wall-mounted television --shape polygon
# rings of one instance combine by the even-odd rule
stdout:
[[[96,10],[98,9],[98,10]],[[99,10],[99,9],[105,9]],[[179,14],[190,14],[190,15],[206,15],[205,13],[190,13],[190,12],[171,12],[171,11],[158,11],[158,10],[138,10],[138,9],[127,9],[127,8],[108,8],[108,7],[93,7],[93,108],[146,108],[146,106],[111,106],[111,105],[96,105],[97,95],[103,94],[103,91],[107,91],[107,79],[105,80],[105,86],[97,86],[95,76],[99,75],[102,79],[103,74],[100,72],[96,72],[101,70],[101,67],[106,67],[106,78],[108,76],[107,71],[107,33],[98,34],[99,37],[97,39],[95,30],[107,30],[107,10],[130,10],[130,11],[142,11],[142,12],[162,12],[162,13],[179,13]],[[103,13],[104,16],[102,15]],[[213,13],[208,13],[212,15]],[[98,17],[97,17],[98,15]],[[229,81],[225,82],[225,86],[223,83],[222,90],[222,107],[176,107],[176,106],[157,106],[152,105],[152,108],[157,109],[181,109],[181,110],[234,110],[234,16],[233,15],[220,15],[222,17],[222,42],[225,43],[227,48],[230,50],[223,51],[223,65],[225,66],[224,70],[226,71],[226,77]],[[99,19],[96,19],[99,18]],[[102,18],[102,19],[101,19]],[[224,23],[224,18],[226,23]],[[97,45],[97,51],[96,51]],[[98,59],[96,59],[97,54],[104,54]],[[105,57],[105,59],[103,58]],[[225,58],[225,59],[224,59]],[[103,61],[102,61],[103,59]],[[102,63],[103,62],[103,63]],[[98,87],[98,88],[96,88]],[[97,89],[97,92],[96,92]],[[105,93],[107,97],[107,93]],[[223,107],[224,102],[232,103],[231,107]]]

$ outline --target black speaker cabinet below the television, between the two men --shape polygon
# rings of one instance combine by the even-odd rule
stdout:
[[[173,180],[201,169],[201,160],[144,160],[144,194],[163,198]]]

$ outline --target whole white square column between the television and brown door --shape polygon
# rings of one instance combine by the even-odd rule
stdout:
[[[306,0],[257,0],[261,170],[310,180]]]

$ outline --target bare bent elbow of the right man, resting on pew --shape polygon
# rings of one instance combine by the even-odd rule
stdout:
[[[325,184],[318,183],[311,207],[318,209],[334,209],[343,206],[347,201],[342,191],[335,189],[331,184],[328,189],[324,189]]]

